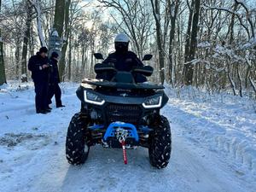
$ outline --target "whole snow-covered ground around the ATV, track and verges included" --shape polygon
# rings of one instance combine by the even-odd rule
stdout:
[[[65,157],[67,125],[79,110],[78,84],[61,84],[67,108],[36,114],[32,84],[0,90],[0,191],[256,191],[255,103],[167,89],[172,158],[164,170],[148,150],[91,148],[84,166]],[[194,93],[194,94],[192,94]],[[195,96],[196,95],[196,96]],[[53,106],[54,107],[54,106]]]

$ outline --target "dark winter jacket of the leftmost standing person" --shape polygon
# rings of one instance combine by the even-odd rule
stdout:
[[[39,53],[29,59],[28,69],[32,72],[34,82],[47,82],[48,69],[43,69],[44,64],[49,64],[49,59],[47,57],[43,58]]]

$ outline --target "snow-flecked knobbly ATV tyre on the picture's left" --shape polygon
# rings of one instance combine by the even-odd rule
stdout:
[[[85,129],[87,123],[81,117],[81,113],[73,115],[67,129],[66,157],[72,165],[84,164],[87,159],[90,146],[86,144]]]

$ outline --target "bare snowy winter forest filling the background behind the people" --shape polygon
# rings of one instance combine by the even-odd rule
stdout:
[[[0,84],[30,81],[27,61],[61,38],[61,81],[93,78],[94,53],[107,56],[125,32],[139,58],[154,55],[150,79],[174,88],[256,97],[253,0],[1,0]]]

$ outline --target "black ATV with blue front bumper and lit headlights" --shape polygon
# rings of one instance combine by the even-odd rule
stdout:
[[[102,59],[101,54],[95,54]],[[152,55],[145,55],[143,61]],[[148,148],[152,166],[168,165],[172,137],[166,117],[160,115],[168,101],[164,86],[136,83],[135,76],[150,76],[149,66],[134,68],[131,72],[117,72],[113,64],[96,64],[96,73],[114,73],[111,81],[84,79],[77,96],[81,110],[71,119],[67,130],[66,156],[72,165],[83,164],[90,147],[102,144],[108,148]]]

